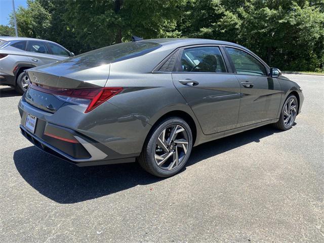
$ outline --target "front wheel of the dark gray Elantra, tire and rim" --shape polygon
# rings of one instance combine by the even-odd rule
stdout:
[[[280,117],[277,123],[275,123],[275,127],[280,130],[288,130],[291,129],[298,111],[298,101],[296,96],[290,95],[281,109]]]

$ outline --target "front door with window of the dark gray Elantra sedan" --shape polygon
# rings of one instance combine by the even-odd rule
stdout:
[[[281,100],[281,87],[268,76],[268,68],[245,50],[225,47],[241,86],[237,127],[275,119]]]

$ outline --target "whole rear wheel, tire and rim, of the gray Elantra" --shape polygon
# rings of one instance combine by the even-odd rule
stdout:
[[[187,163],[192,148],[189,125],[179,117],[171,117],[155,126],[145,141],[139,163],[158,177],[178,173]]]

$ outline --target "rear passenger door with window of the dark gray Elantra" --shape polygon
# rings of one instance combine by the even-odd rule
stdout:
[[[240,85],[219,46],[180,49],[172,78],[205,134],[236,127]]]

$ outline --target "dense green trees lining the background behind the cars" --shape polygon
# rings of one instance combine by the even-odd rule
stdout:
[[[197,37],[238,43],[271,66],[324,69],[323,0],[28,0],[20,35],[82,53],[122,41]],[[13,21],[11,19],[11,25]],[[12,29],[11,29],[12,30]],[[5,27],[0,31],[7,33]]]

